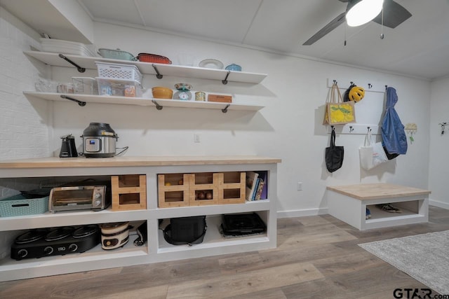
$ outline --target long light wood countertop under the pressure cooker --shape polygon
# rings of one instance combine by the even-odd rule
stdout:
[[[6,160],[0,162],[0,169],[19,168],[62,168],[62,167],[130,167],[130,166],[172,166],[172,165],[235,165],[280,163],[279,158],[255,155],[213,155],[213,156],[135,156],[112,158],[33,158]]]

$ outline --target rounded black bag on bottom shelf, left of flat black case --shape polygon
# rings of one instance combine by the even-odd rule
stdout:
[[[173,245],[199,244],[206,235],[206,216],[170,218],[163,230],[163,238]]]

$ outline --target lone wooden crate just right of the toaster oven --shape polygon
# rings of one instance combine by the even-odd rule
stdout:
[[[147,209],[147,176],[111,176],[112,211]]]

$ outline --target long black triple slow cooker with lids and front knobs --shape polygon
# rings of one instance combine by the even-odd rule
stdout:
[[[60,228],[36,228],[15,238],[11,245],[11,258],[42,258],[64,256],[68,253],[84,252],[100,243],[98,225]]]

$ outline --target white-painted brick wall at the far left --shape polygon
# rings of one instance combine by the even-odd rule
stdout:
[[[46,69],[36,68],[23,54],[39,48],[39,35],[0,8],[0,159],[46,157],[48,151],[48,104],[29,102],[23,90]]]

